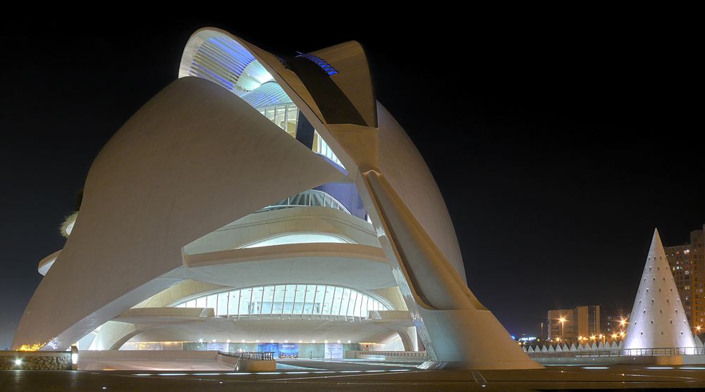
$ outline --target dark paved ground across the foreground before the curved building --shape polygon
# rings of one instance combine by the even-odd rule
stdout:
[[[0,391],[568,391],[705,388],[705,367],[547,367],[429,371],[371,360],[281,360],[270,373],[3,371]]]

